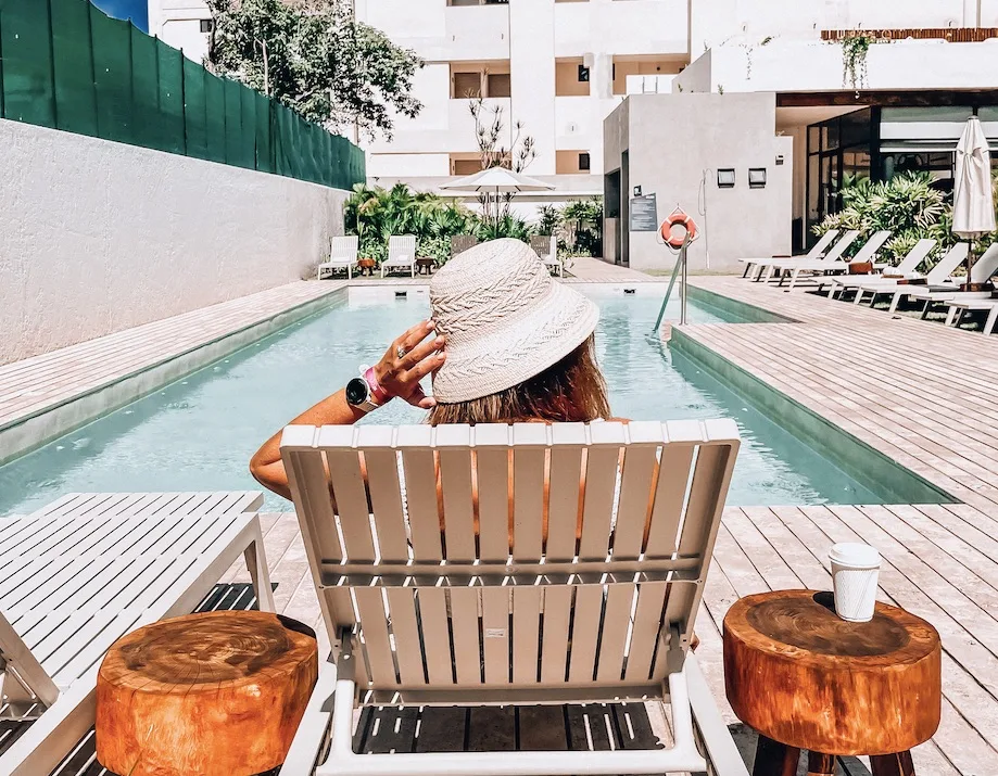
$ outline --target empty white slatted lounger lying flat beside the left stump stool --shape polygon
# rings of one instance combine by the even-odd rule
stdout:
[[[111,645],[193,611],[243,555],[260,608],[274,598],[258,493],[71,494],[0,520],[2,716],[27,726],[3,776],[49,774],[93,726]],[[29,725],[29,726],[28,726]]]

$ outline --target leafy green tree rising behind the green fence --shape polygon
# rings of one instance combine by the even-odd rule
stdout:
[[[214,20],[206,65],[328,129],[355,122],[391,138],[395,115],[416,116],[415,52],[357,22],[348,0],[206,0]]]

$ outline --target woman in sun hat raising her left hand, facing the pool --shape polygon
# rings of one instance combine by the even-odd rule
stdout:
[[[494,240],[451,259],[430,282],[432,317],[399,336],[378,364],[291,423],[346,425],[393,398],[429,422],[558,422],[609,417],[596,366],[598,308],[556,283],[519,240]],[[433,396],[420,381],[432,377]],[[250,471],[291,498],[280,432]]]

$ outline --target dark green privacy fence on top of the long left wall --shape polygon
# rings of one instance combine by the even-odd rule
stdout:
[[[364,153],[87,0],[0,0],[0,115],[350,189]]]

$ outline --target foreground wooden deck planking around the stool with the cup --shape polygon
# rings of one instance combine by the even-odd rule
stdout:
[[[283,613],[312,624],[321,633],[307,561],[292,513],[267,516],[264,536],[275,599]],[[884,556],[880,599],[924,616],[939,631],[944,645],[944,709],[933,741],[914,752],[920,774],[981,776],[998,773],[998,525],[965,505],[887,505],[863,507],[728,508],[715,548],[715,562],[705,587],[696,631],[697,657],[722,715],[736,723],[724,699],[721,625],[738,597],[768,589],[829,589],[828,550],[834,542],[863,540]],[[249,580],[237,563],[226,577]],[[283,589],[282,589],[283,588]],[[326,639],[324,638],[324,647]],[[645,710],[654,735],[668,736],[655,709]],[[620,740],[620,722],[609,711],[588,708],[569,714],[568,746],[611,746],[609,730]],[[617,712],[614,712],[617,713]],[[466,739],[498,735],[505,725],[490,726],[484,717],[453,721],[417,715],[428,738],[419,746],[465,747]],[[435,724],[441,730],[435,734]],[[383,724],[383,723],[382,723]],[[476,728],[476,724],[484,726]],[[642,723],[644,724],[644,723]],[[470,727],[468,727],[470,725]],[[522,720],[516,729],[522,746]],[[500,729],[502,728],[502,729]],[[508,730],[506,732],[508,735]],[[410,734],[415,735],[415,734]],[[572,735],[574,739],[572,739]],[[582,736],[582,738],[580,738]],[[742,736],[742,738],[745,738]],[[365,741],[375,747],[374,739]],[[446,743],[441,743],[445,741]],[[742,741],[751,751],[750,739]],[[382,746],[382,745],[378,745]],[[862,773],[855,760],[849,773]]]

